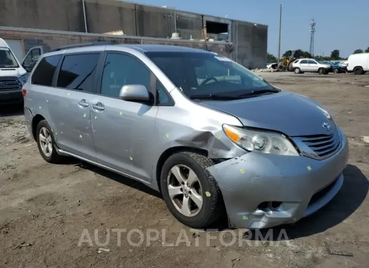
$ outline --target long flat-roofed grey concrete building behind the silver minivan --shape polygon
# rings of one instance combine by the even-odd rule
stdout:
[[[203,25],[210,37],[206,42],[199,40],[203,39]],[[0,26],[0,36],[22,39],[25,50],[37,42],[47,44],[46,50],[48,46],[53,48],[57,42],[51,40],[58,40],[55,39],[57,34],[65,35],[66,41],[59,42],[63,46],[81,39],[68,39],[69,34],[88,40],[150,40],[150,43],[174,43],[202,49],[211,45],[215,52],[220,51],[245,67],[266,65],[268,26],[169,7],[121,0],[1,0]],[[124,35],[107,34],[117,31]],[[168,40],[174,32],[181,39]],[[29,42],[29,35],[34,36],[33,43]]]

